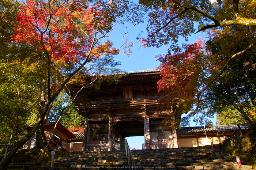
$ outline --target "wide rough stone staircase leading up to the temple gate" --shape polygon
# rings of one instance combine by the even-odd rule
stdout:
[[[237,165],[236,158],[220,148],[186,147],[156,150],[133,150],[137,170],[253,170],[252,166]],[[54,159],[54,167],[42,164],[30,167],[31,170],[128,170],[124,151],[64,152]]]

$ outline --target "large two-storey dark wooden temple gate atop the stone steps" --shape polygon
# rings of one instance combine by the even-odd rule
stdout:
[[[158,92],[161,78],[156,69],[129,72],[117,84],[103,82],[97,91],[69,87],[76,111],[84,117],[83,151],[121,150],[128,136],[144,136],[144,149],[177,147],[175,129],[160,124],[168,114],[157,113],[163,94]]]

